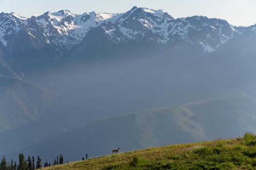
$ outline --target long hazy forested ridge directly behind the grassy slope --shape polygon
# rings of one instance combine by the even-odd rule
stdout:
[[[201,141],[255,133],[256,98],[235,92],[198,103],[120,115],[57,133],[19,150],[48,160],[63,153],[69,160],[170,143]]]

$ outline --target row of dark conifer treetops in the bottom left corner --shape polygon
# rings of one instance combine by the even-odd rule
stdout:
[[[18,156],[18,164],[11,160],[8,162],[5,156],[1,159],[0,170],[35,170],[42,167],[41,158],[37,156],[36,161],[34,156],[28,156],[28,159],[25,159],[23,153],[20,153]],[[57,156],[57,159],[54,160],[52,165],[64,164],[64,157],[62,154]],[[68,163],[68,161],[67,161]],[[44,163],[44,167],[51,166],[51,163],[48,160]]]

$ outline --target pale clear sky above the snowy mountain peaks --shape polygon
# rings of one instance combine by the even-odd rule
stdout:
[[[256,23],[256,0],[0,0],[0,12],[29,17],[46,11],[121,13],[133,6],[163,9],[173,17],[204,15],[223,18],[236,26]]]

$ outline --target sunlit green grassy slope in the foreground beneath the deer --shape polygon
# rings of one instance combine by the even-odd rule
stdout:
[[[149,148],[45,169],[256,169],[256,136]]]

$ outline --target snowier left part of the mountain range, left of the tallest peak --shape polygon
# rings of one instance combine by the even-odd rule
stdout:
[[[0,42],[7,46],[15,33],[25,31],[33,38],[44,40],[67,48],[79,43],[86,33],[103,22],[115,22],[122,14],[90,12],[75,15],[68,10],[46,12],[31,18],[20,17],[14,13],[0,14]]]

